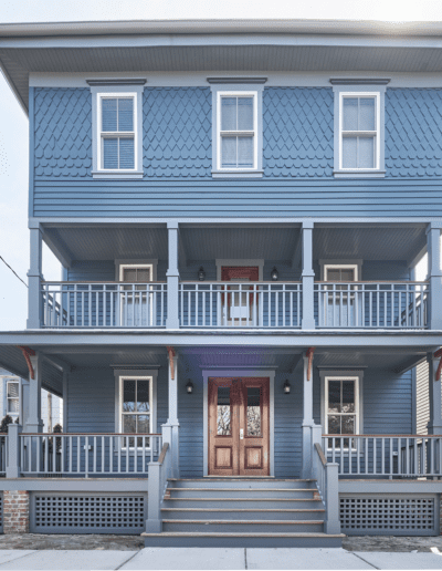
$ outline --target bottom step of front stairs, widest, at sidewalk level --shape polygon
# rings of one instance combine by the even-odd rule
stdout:
[[[344,534],[326,533],[141,533],[145,547],[340,548]]]

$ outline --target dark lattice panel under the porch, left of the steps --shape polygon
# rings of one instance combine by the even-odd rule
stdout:
[[[39,494],[31,496],[32,533],[125,533],[145,530],[145,494]]]

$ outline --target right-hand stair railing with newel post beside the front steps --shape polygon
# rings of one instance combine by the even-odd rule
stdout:
[[[327,461],[319,443],[314,445],[313,477],[326,509],[324,531],[328,534],[340,533],[338,464]]]

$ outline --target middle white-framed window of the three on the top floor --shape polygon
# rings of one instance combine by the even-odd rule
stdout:
[[[218,168],[256,168],[256,93],[218,93]]]

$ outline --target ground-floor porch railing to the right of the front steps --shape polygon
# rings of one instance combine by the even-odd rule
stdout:
[[[442,477],[442,436],[324,435],[339,476]]]

